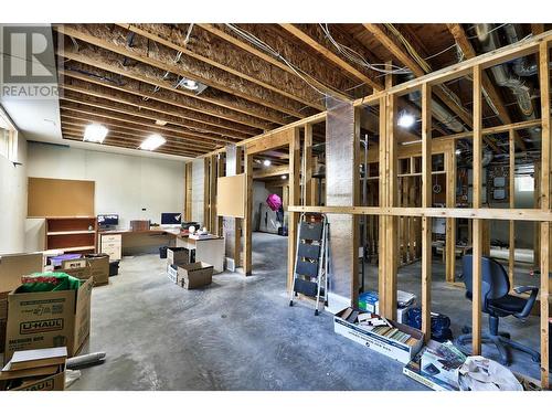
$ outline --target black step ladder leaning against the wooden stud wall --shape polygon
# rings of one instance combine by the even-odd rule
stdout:
[[[320,299],[326,304],[328,294],[328,220],[326,214],[302,213],[299,219],[294,282],[289,306],[294,296],[301,294],[316,298],[315,315]]]

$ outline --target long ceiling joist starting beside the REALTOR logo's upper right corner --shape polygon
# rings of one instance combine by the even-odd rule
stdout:
[[[54,30],[73,39],[102,47],[105,51],[200,82],[211,88],[246,99],[258,107],[259,115],[263,113],[279,112],[297,118],[306,116],[299,112],[302,106],[300,103],[277,96],[272,91],[193,59],[183,59],[177,62],[177,54],[170,53],[167,47],[150,47],[148,42],[136,41],[130,47],[127,44],[127,32],[121,28],[108,26],[107,24],[63,24],[55,25]],[[201,95],[204,95],[204,93]]]

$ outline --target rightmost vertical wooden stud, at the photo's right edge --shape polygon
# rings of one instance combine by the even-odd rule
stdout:
[[[550,125],[550,45],[541,43],[539,47],[539,79],[541,92],[542,114],[542,160],[541,160],[541,210],[550,211],[552,208],[552,129]],[[550,240],[551,223],[541,223],[541,385],[543,390],[550,388]]]

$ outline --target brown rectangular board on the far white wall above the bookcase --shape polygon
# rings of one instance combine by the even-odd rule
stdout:
[[[94,215],[94,181],[29,177],[28,216]]]

